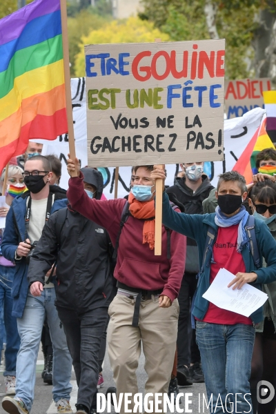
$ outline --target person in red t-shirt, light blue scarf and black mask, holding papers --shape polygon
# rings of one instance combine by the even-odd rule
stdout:
[[[151,178],[154,182],[155,179],[165,179],[164,171],[155,168]],[[240,289],[246,283],[253,283],[255,288],[262,289],[262,284],[276,280],[276,241],[264,222],[256,219],[253,224],[261,258],[259,266],[248,244],[249,214],[242,206],[246,196],[246,181],[236,171],[219,175],[218,206],[213,214],[177,214],[170,207],[168,195],[163,195],[163,224],[195,239],[199,248],[201,270],[192,313],[196,319],[197,344],[208,399],[213,412],[219,414],[226,411],[253,413],[249,379],[254,324],[262,322],[264,317],[262,307],[250,317],[244,317],[218,308],[202,295],[220,268],[235,275],[228,288]],[[267,267],[262,267],[262,257]]]

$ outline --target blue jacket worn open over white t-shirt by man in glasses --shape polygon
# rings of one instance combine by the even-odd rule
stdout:
[[[55,201],[50,213],[55,213],[59,208],[66,207],[67,203],[68,199],[66,198]],[[26,197],[21,195],[15,197],[6,217],[6,228],[1,244],[3,257],[16,264],[11,293],[13,297],[12,316],[14,317],[22,317],[29,288],[27,279],[28,265],[25,258],[22,257],[21,260],[14,260],[15,250],[17,250],[19,243],[25,239],[26,208]],[[12,211],[14,211],[14,219],[17,221],[20,238],[15,230]]]

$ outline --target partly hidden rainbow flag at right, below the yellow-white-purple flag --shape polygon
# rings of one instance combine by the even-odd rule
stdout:
[[[264,115],[261,125],[257,128],[255,134],[250,139],[248,146],[246,146],[246,149],[233,168],[233,170],[244,175],[246,184],[250,184],[252,182],[253,174],[257,174],[256,157],[257,154],[265,148],[275,148],[266,132],[266,115]]]

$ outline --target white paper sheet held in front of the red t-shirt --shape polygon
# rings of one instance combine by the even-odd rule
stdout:
[[[202,296],[219,308],[249,317],[266,302],[268,295],[247,283],[239,290],[233,290],[233,286],[228,288],[234,278],[233,273],[224,268],[220,269],[210,288]]]

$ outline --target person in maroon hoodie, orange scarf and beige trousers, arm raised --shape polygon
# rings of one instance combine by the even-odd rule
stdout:
[[[76,168],[78,176],[72,177]],[[186,237],[163,226],[162,254],[155,256],[152,169],[153,166],[135,167],[134,185],[128,201],[98,201],[90,199],[83,190],[79,160],[68,159],[71,175],[68,199],[72,208],[104,226],[117,250],[114,275],[118,293],[108,310],[108,353],[117,397],[121,393],[132,393],[133,398],[138,393],[136,370],[141,343],[148,374],[146,393],[168,392],[175,357],[179,315],[177,295],[185,267]],[[122,213],[126,213],[124,220]],[[121,407],[122,414],[124,400]],[[133,410],[133,400],[128,408]]]

